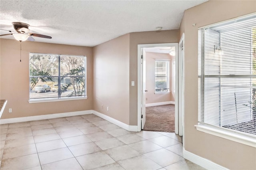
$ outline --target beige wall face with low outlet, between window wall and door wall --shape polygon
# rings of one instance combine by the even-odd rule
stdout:
[[[129,40],[130,35],[126,34],[93,48],[94,110],[127,125],[130,86]]]

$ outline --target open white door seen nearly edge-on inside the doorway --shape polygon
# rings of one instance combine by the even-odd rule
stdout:
[[[142,67],[142,107],[141,107],[141,129],[144,128],[144,125],[146,123],[146,55],[145,55],[145,51],[142,48],[141,53],[142,55],[142,59],[141,59],[141,67]]]

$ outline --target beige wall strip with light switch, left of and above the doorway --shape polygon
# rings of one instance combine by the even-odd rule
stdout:
[[[179,30],[150,31],[130,33],[130,81],[135,81],[135,86],[130,87],[130,124],[138,123],[138,44],[152,43],[177,43]]]

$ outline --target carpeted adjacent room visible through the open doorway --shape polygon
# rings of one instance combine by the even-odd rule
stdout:
[[[175,132],[175,46],[143,49],[146,122],[143,130]],[[144,105],[142,104],[142,107]]]

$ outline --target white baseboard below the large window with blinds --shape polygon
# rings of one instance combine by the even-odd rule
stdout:
[[[208,170],[228,170],[228,168],[225,168],[225,167],[223,167],[219,164],[216,164],[206,158],[203,158],[201,156],[198,156],[196,154],[188,152],[184,148],[183,148],[183,157],[195,164],[202,166],[203,168],[208,169]]]

